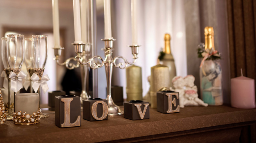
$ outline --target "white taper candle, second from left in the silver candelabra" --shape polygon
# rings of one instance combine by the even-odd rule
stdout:
[[[82,43],[79,0],[73,0],[75,43]]]

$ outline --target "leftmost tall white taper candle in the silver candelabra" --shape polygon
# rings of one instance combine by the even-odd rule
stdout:
[[[59,38],[59,7],[58,0],[52,0],[53,6],[53,37],[54,37],[54,48],[60,47]]]

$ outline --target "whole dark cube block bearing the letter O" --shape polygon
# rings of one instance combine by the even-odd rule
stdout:
[[[83,100],[83,119],[88,121],[108,119],[108,100],[89,98]]]

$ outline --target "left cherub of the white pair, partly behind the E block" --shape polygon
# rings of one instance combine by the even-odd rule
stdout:
[[[171,90],[179,92],[180,107],[184,108],[184,80],[181,76],[175,76],[172,79],[172,84],[175,89],[170,87]]]

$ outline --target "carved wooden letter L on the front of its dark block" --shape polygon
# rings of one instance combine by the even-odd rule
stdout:
[[[61,101],[64,102],[64,123],[61,124],[61,127],[75,127],[80,126],[81,116],[78,116],[74,123],[70,123],[70,103],[73,98],[62,98]]]

